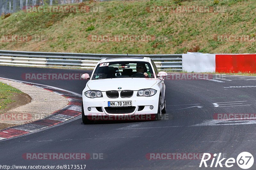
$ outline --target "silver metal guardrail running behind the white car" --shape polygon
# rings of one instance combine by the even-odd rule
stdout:
[[[0,50],[0,65],[93,69],[102,58],[126,55]],[[182,70],[182,54],[129,54],[128,56],[150,57],[156,63],[156,67],[159,70]]]

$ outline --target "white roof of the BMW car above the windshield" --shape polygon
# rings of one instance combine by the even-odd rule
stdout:
[[[148,62],[150,60],[149,57],[141,57],[141,56],[121,56],[121,57],[108,57],[103,58],[100,63],[106,62],[115,62],[115,61],[144,61]]]

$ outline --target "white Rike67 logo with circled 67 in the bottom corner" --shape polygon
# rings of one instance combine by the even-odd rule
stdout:
[[[235,158],[228,158],[225,162],[224,162],[224,160],[226,158],[220,159],[221,158],[221,153],[219,153],[218,158],[217,158],[216,163],[215,163],[215,166],[214,166],[214,161],[215,161],[216,158],[217,158],[217,154],[214,153],[210,167],[223,167],[223,164],[225,163],[224,165],[226,167],[230,168],[230,167],[234,166],[235,163],[237,163],[237,165],[240,168],[248,169],[248,168],[252,167],[253,162],[254,162],[253,156],[249,152],[241,152],[236,157],[236,160],[235,160]],[[203,163],[204,163],[204,167],[208,167],[207,164],[206,164],[206,161],[208,161],[210,159],[211,159],[211,154],[210,153],[204,153],[199,167],[202,167]]]

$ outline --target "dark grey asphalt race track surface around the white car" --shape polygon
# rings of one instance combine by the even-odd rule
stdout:
[[[22,73],[89,73],[0,66],[0,77]],[[212,81],[213,79],[213,81]],[[167,114],[161,121],[99,122],[82,118],[51,129],[0,141],[2,165],[86,165],[86,169],[204,169],[200,159],[148,160],[147,153],[256,153],[256,120],[216,121],[214,114],[256,113],[256,78],[214,75],[212,79],[165,80]],[[31,80],[81,93],[87,80]],[[237,86],[237,87],[231,87]],[[240,86],[240,87],[239,87]],[[244,86],[244,87],[241,87]],[[26,160],[24,153],[103,153],[103,159]],[[256,156],[256,155],[255,155]],[[211,162],[209,162],[210,165]],[[253,165],[251,169],[255,169]],[[225,169],[225,168],[205,168]],[[234,164],[229,169],[240,169]]]

